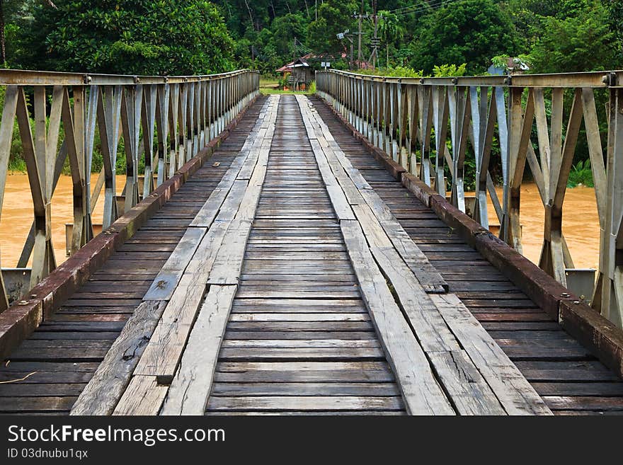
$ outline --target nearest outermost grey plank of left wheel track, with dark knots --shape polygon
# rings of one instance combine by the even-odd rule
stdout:
[[[165,306],[162,301],[138,306],[74,403],[71,415],[113,413]]]

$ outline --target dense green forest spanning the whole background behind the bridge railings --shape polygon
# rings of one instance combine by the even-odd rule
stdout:
[[[532,72],[623,67],[623,0],[3,0],[0,42],[18,68],[273,74],[311,53],[314,67],[345,69],[360,13],[362,64],[372,58],[373,3],[382,68],[482,74],[506,56]]]

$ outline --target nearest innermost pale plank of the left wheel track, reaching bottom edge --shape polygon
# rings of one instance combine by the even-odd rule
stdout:
[[[235,294],[236,286],[210,286],[169,388],[163,415],[202,415],[205,411]]]

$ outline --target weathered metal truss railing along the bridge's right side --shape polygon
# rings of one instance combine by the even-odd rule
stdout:
[[[520,253],[527,163],[545,209],[539,266],[565,286],[575,267],[562,231],[564,197],[583,126],[601,229],[594,238],[600,241],[598,277],[587,300],[622,326],[623,71],[423,79],[319,71],[316,89],[440,195],[446,195],[449,174],[452,204],[486,228],[488,196],[501,239]],[[473,205],[464,189],[467,160],[476,171]],[[494,163],[501,166],[502,198]]]

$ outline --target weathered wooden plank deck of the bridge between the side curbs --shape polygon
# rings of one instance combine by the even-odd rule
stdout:
[[[115,413],[623,413],[621,380],[324,104],[268,100],[13,351],[0,381],[25,379],[0,384],[0,413],[69,413],[89,380],[78,413],[115,389]],[[392,243],[400,231],[418,263]],[[135,331],[135,352],[113,357],[145,309],[154,337]],[[121,387],[103,369],[115,363]]]

